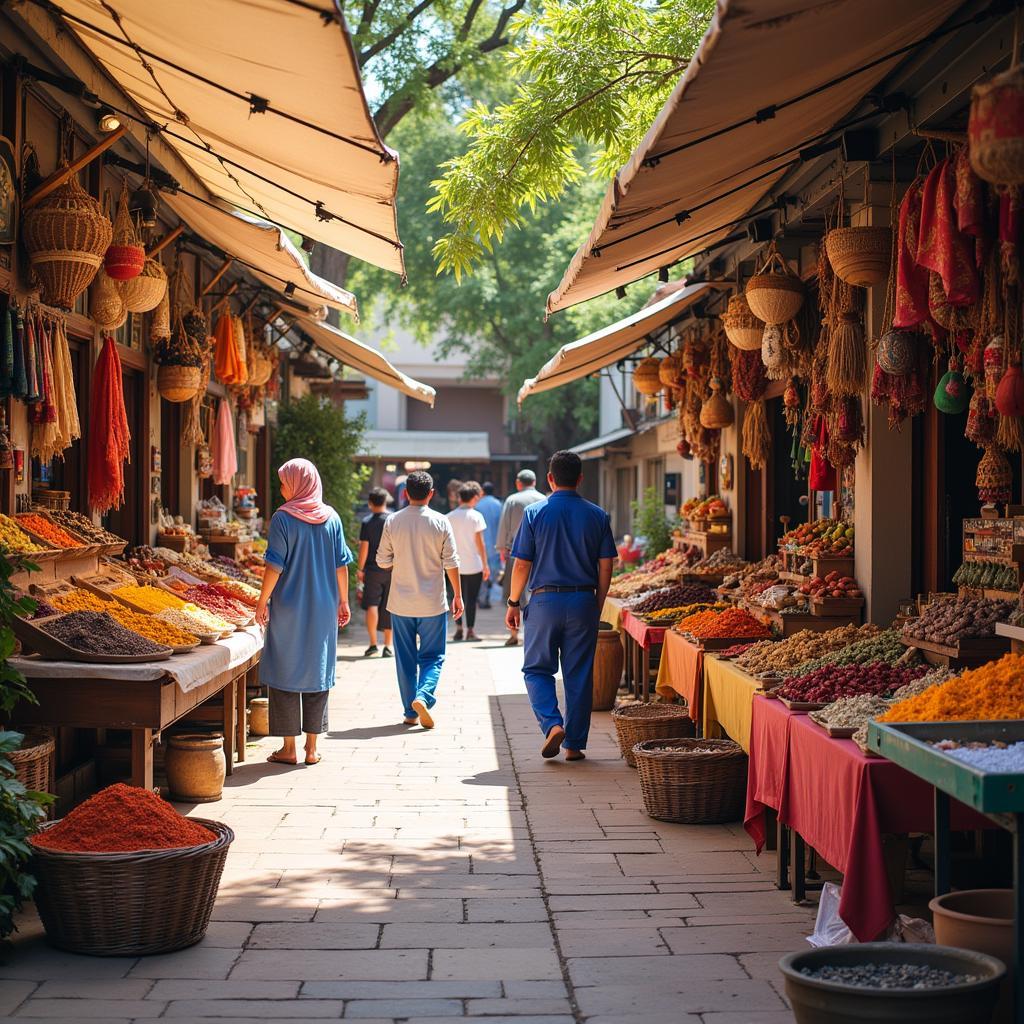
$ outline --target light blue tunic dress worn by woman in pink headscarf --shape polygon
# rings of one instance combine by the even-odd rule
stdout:
[[[281,570],[259,663],[260,682],[309,693],[334,686],[338,650],[337,569],[352,560],[341,520],[310,523],[275,512],[266,563]]]

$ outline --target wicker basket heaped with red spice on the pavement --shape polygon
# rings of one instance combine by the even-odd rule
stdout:
[[[234,833],[116,785],[32,838],[36,906],[54,946],[139,956],[206,934]]]

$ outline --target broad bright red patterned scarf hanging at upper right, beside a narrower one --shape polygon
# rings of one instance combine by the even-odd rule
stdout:
[[[956,226],[955,191],[952,163],[946,159],[932,169],[922,191],[918,265],[942,279],[949,305],[971,306],[980,298],[981,286],[974,265],[974,246]]]

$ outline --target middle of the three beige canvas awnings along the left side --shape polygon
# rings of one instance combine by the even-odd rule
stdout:
[[[292,294],[305,306],[325,305],[358,316],[355,296],[316,276],[276,224],[216,209],[182,193],[164,193],[162,200],[197,234],[247,264],[252,275],[273,291],[294,285]]]

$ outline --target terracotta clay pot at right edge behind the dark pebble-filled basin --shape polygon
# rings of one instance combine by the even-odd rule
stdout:
[[[988,953],[1007,965],[999,1002],[993,1020],[1013,1019],[1014,891],[1013,889],[967,889],[936,896],[929,904],[935,941]]]

